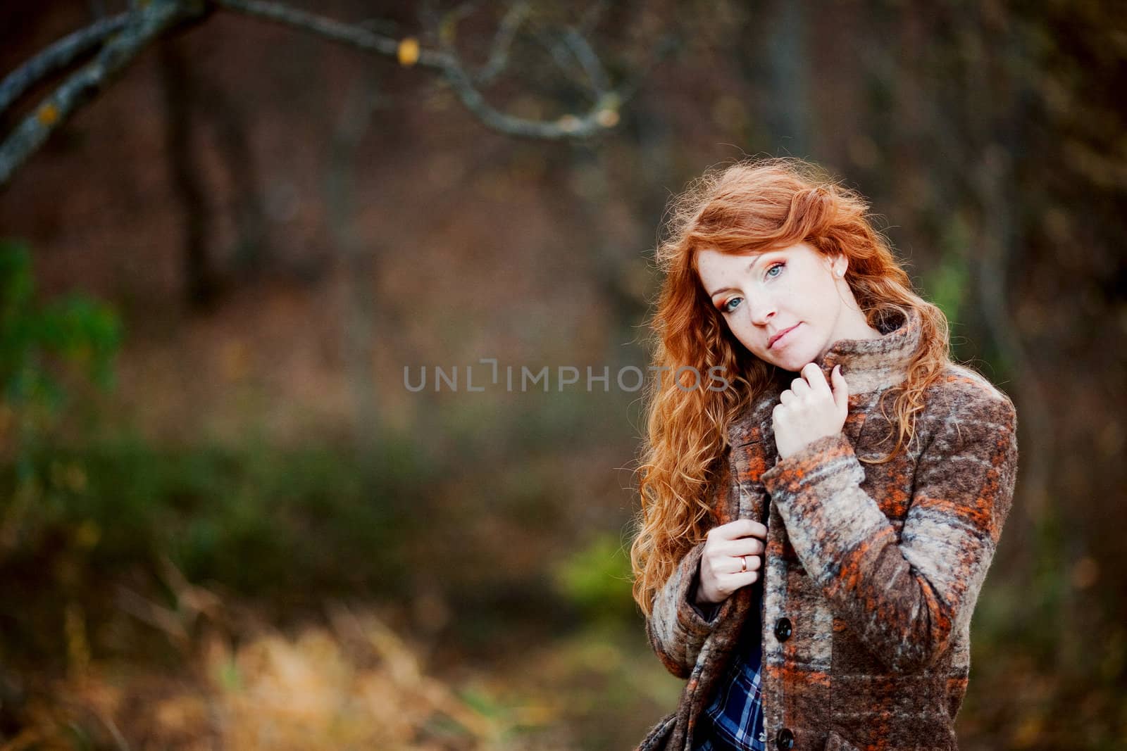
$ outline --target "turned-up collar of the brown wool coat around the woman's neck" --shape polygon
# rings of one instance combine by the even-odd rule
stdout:
[[[878,321],[877,329],[882,334],[880,338],[842,339],[814,360],[827,382],[834,366],[841,365],[851,397],[885,391],[902,383],[907,377],[912,357],[920,348],[921,316],[914,309],[890,311]],[[779,392],[787,388],[793,378],[792,373],[778,370],[775,381]],[[754,440],[761,433],[758,428],[770,423],[771,409],[778,402],[778,392],[764,394],[728,426],[728,439],[733,445]]]

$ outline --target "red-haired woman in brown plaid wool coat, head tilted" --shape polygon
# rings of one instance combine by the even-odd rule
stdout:
[[[779,159],[674,204],[631,556],[689,680],[641,749],[957,748],[1015,414],[867,208]]]

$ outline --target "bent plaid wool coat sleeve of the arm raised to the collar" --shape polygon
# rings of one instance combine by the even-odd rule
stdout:
[[[1013,500],[1017,414],[978,387],[948,401],[915,468],[899,538],[844,435],[763,474],[807,573],[889,670],[932,664],[970,620]]]

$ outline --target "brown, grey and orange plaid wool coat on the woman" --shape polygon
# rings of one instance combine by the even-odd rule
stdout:
[[[818,363],[827,382],[842,365],[849,384],[840,433],[779,458],[772,410],[795,374],[780,374],[729,427],[708,525],[765,520],[763,596],[742,588],[706,619],[693,606],[704,543],[681,558],[655,596],[647,634],[687,682],[640,750],[691,749],[753,602],[769,749],[957,748],[970,615],[1013,499],[1017,415],[990,382],[949,364],[925,393],[907,449],[861,462],[895,445],[878,400],[906,377],[919,314],[881,333],[838,341]]]

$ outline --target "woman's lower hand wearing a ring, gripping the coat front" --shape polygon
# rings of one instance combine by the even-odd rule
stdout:
[[[701,554],[698,605],[722,602],[760,578],[766,534],[766,527],[751,519],[737,519],[709,530]]]

